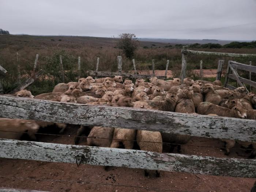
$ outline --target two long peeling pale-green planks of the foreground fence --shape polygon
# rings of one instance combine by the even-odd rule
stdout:
[[[55,116],[52,114],[61,114]],[[255,120],[0,96],[0,117],[256,142]],[[0,157],[256,177],[256,160],[0,139]]]

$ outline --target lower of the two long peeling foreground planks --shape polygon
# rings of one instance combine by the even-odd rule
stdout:
[[[256,160],[0,139],[0,157],[231,177],[256,177]]]

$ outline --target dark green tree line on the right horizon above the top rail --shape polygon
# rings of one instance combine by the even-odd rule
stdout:
[[[188,44],[187,44],[188,45]],[[174,47],[176,48],[182,48],[184,44],[176,44]],[[238,41],[233,41],[229,44],[226,45],[221,45],[221,44],[215,44],[215,43],[207,43],[207,44],[191,44],[188,45],[189,48],[210,48],[210,49],[218,49],[218,48],[256,48],[256,41],[252,42],[238,42]]]

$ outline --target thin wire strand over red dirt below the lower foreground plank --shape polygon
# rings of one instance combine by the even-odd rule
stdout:
[[[53,180],[53,179],[38,179],[38,178],[25,178],[25,177],[7,177],[0,175],[0,178],[8,178],[8,179],[26,179],[26,180],[36,180],[36,181],[53,181],[53,182],[75,182],[79,184],[94,184],[94,185],[113,185],[115,187],[132,187],[132,188],[141,188],[146,190],[155,190],[155,191],[171,191],[171,192],[198,192],[198,191],[182,191],[182,190],[172,190],[172,189],[158,189],[151,187],[140,187],[135,185],[123,185],[123,184],[110,184],[110,183],[98,183],[91,181],[74,181],[74,180]]]

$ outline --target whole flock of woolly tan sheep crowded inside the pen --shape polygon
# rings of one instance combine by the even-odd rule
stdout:
[[[182,84],[179,78],[165,81],[153,76],[150,83],[143,79],[136,79],[135,84],[133,84],[132,80],[128,79],[123,82],[121,76],[99,79],[93,79],[89,76],[80,78],[78,82],[59,83],[54,87],[52,93],[44,93],[34,97],[30,91],[21,90],[15,93],[14,96],[88,105],[122,106],[256,120],[256,95],[254,93],[246,94],[244,87],[229,90],[222,87],[218,80],[208,82],[185,78]],[[5,131],[27,131],[31,139],[36,139],[35,133],[39,127],[47,127],[53,124],[42,121],[0,118],[0,131],[4,131],[0,133],[0,137],[20,139],[23,133]],[[60,133],[67,127],[63,123],[56,123],[56,126],[61,128]],[[75,144],[79,143],[81,135],[88,132],[87,144],[89,146],[132,149],[133,141],[136,140],[140,150],[159,153],[162,153],[163,142],[171,143],[170,152],[176,146],[177,151],[180,152],[181,144],[187,143],[191,138],[189,135],[174,133],[81,126],[78,129]],[[226,155],[230,153],[230,148],[234,147],[236,142],[243,147],[252,146],[250,157],[254,158],[256,155],[256,143],[227,139],[222,141],[226,143]],[[145,170],[145,175],[148,175],[148,170]],[[156,171],[156,175],[159,176],[160,172]]]

